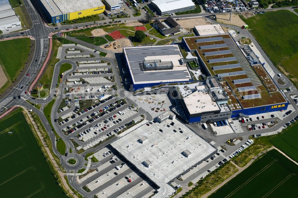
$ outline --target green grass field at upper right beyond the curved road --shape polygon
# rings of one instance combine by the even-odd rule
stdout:
[[[243,19],[274,65],[298,84],[298,16],[287,10]]]

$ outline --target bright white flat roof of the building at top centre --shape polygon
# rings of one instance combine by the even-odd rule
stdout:
[[[151,2],[156,4],[161,12],[195,6],[191,0],[153,0]]]

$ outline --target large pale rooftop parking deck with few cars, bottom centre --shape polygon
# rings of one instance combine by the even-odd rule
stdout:
[[[174,126],[167,127],[172,121]],[[138,140],[144,136],[148,139],[140,143]],[[111,146],[161,188],[168,188],[167,182],[216,151],[215,147],[176,119],[149,126],[144,124],[111,143]],[[191,155],[183,155],[185,150]],[[147,160],[152,163],[150,167],[143,163]]]

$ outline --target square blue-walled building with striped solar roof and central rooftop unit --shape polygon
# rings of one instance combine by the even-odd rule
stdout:
[[[134,89],[193,81],[178,45],[124,47]]]

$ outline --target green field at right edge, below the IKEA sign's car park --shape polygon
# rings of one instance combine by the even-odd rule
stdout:
[[[298,124],[287,128],[271,140],[272,144],[298,162]]]

